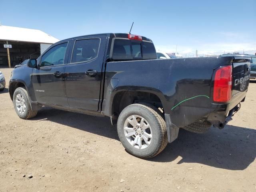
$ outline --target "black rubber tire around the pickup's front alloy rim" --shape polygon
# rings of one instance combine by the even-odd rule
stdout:
[[[15,102],[15,99],[16,99],[16,96],[17,94],[21,94],[22,97],[24,98],[25,100],[25,103],[26,103],[26,109],[24,111],[24,113],[20,113],[16,107],[16,102]],[[34,116],[36,116],[38,110],[32,110],[31,108],[31,102],[30,102],[30,98],[28,96],[28,92],[26,91],[25,88],[23,87],[18,87],[16,88],[16,90],[14,91],[14,94],[13,94],[13,105],[14,105],[14,109],[17,113],[17,115],[22,118],[22,119],[29,119],[29,118],[32,118]]]

